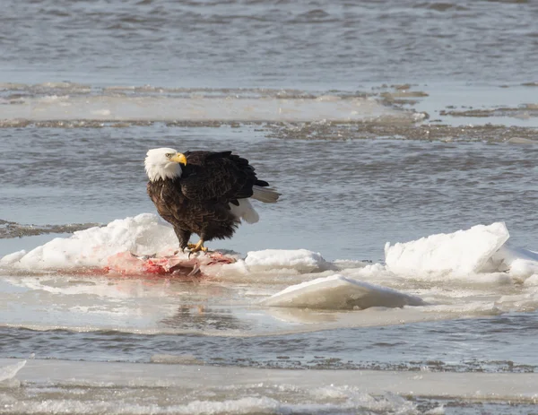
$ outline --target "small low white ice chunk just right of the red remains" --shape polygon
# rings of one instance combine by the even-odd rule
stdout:
[[[247,254],[245,264],[250,271],[268,272],[275,269],[291,269],[298,272],[317,272],[331,268],[321,254],[308,249],[265,249]]]

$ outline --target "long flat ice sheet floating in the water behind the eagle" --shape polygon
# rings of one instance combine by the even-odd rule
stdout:
[[[190,122],[345,121],[411,124],[424,114],[388,108],[375,99],[337,96],[317,98],[237,98],[48,95],[5,102],[5,120],[100,120]]]

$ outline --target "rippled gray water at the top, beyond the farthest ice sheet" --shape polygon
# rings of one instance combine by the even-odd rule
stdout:
[[[534,1],[3,2],[6,82],[353,90],[536,82]]]

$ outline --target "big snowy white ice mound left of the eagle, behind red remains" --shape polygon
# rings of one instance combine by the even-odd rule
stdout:
[[[142,213],[114,220],[104,227],[74,232],[70,238],[55,238],[25,255],[6,255],[1,262],[24,269],[100,267],[107,265],[110,255],[119,252],[152,255],[177,244],[178,238],[171,227],[154,214]]]

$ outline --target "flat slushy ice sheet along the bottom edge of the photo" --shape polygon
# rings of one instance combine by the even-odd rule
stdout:
[[[54,359],[29,360],[20,377],[25,399],[10,402],[10,413],[416,414],[398,395],[535,403],[538,382],[535,373],[310,369],[305,376],[302,369]]]

